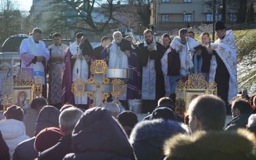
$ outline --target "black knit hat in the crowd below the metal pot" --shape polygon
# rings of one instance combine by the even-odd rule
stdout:
[[[129,126],[132,128],[138,123],[138,117],[136,113],[132,111],[123,111],[116,117],[116,119],[122,126]]]

